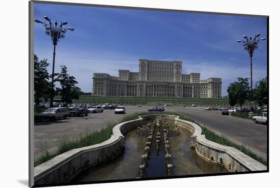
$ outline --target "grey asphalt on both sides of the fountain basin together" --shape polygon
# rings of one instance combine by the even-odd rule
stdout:
[[[42,144],[47,143],[49,152],[57,148],[59,138],[75,138],[87,131],[97,131],[109,122],[120,121],[124,116],[135,112],[147,111],[151,106],[126,106],[126,114],[115,114],[114,110],[89,114],[82,117],[69,117],[55,121],[35,122],[34,152],[35,158],[41,152]],[[215,131],[230,140],[245,145],[251,151],[266,159],[267,127],[253,121],[222,116],[221,111],[206,111],[204,107],[165,107],[165,111],[178,112],[199,122],[202,126]]]

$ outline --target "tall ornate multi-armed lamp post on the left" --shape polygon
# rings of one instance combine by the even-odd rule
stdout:
[[[34,21],[36,23],[42,23],[46,29],[45,34],[51,37],[51,41],[53,44],[53,57],[52,57],[52,74],[51,74],[51,92],[50,92],[50,107],[53,107],[53,95],[54,95],[54,89],[53,89],[53,78],[54,78],[54,62],[55,62],[55,46],[57,46],[60,39],[65,38],[65,33],[67,30],[74,31],[73,28],[64,28],[63,26],[67,24],[67,21],[61,22],[61,24],[58,26],[58,22],[55,21],[54,25],[51,22],[51,20],[44,16],[45,20],[48,22],[42,22],[40,20],[35,19]]]

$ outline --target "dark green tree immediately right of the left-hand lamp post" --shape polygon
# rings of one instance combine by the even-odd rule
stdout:
[[[75,80],[74,76],[69,76],[67,74],[67,67],[66,66],[60,66],[61,67],[61,73],[58,75],[57,81],[60,82],[61,89],[57,89],[57,91],[60,93],[61,101],[64,104],[70,104],[73,103],[73,99],[78,100],[79,99],[79,93],[81,89],[75,84],[78,82]]]

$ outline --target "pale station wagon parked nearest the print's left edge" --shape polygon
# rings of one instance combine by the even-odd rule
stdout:
[[[40,120],[43,120],[43,119],[55,120],[55,119],[58,119],[58,118],[66,119],[66,117],[68,115],[69,115],[69,112],[64,107],[48,108],[43,113],[35,114],[34,120],[35,121],[40,121]]]

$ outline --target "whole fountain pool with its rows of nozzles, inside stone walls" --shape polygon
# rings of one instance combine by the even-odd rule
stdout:
[[[146,127],[148,129],[145,130]],[[172,129],[169,130],[170,127]],[[146,137],[144,136],[145,131]],[[131,133],[133,134],[125,135],[125,146],[129,149],[119,158],[117,165],[111,162],[100,168],[94,167],[91,171],[89,170],[90,173],[81,173],[79,178],[83,178],[79,181],[110,180],[115,177],[128,179],[227,172],[223,167],[207,163],[199,156],[193,157],[197,155],[195,150],[191,150],[191,133],[181,129],[179,134],[179,126],[175,121],[164,119],[164,117],[148,119]],[[182,146],[186,149],[179,149]],[[186,152],[194,155],[185,154]],[[135,164],[139,164],[139,166]],[[233,171],[236,170],[233,168]],[[137,171],[138,174],[131,173],[133,171]]]

